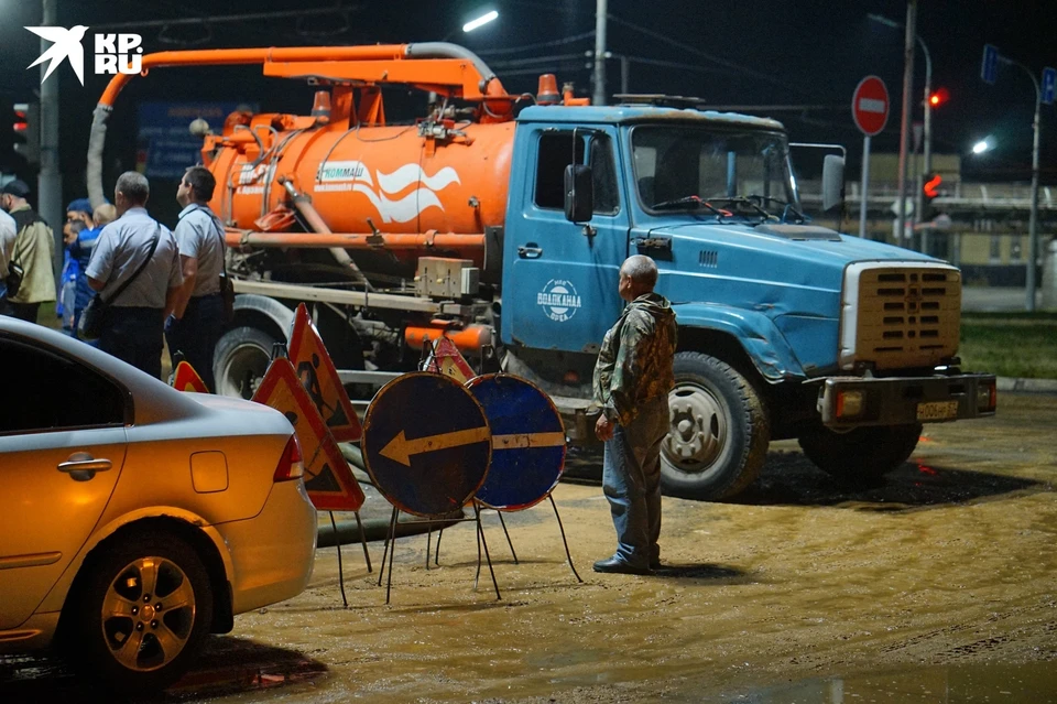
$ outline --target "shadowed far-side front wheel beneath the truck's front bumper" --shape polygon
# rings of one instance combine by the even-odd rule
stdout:
[[[838,433],[816,429],[799,437],[800,448],[822,472],[844,481],[869,484],[911,456],[922,424],[867,426]]]

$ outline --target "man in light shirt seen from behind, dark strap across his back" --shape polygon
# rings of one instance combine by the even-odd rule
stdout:
[[[113,193],[118,219],[99,234],[86,273],[88,285],[109,303],[99,348],[157,379],[163,327],[183,278],[176,238],[146,213],[150,194],[143,174],[127,171],[118,177]],[[115,291],[133,277],[115,299]]]

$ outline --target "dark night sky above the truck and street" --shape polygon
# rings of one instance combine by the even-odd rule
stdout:
[[[23,25],[41,21],[35,1],[0,0],[0,93],[14,101],[32,99],[40,86],[37,68],[24,71],[39,55],[39,40]],[[291,8],[342,8],[325,17],[243,20],[238,23],[167,28],[128,26],[143,35],[146,52],[173,48],[298,44],[372,44],[448,41],[480,54],[510,93],[535,91],[536,76],[554,72],[559,85],[576,83],[577,94],[591,94],[584,52],[593,48],[593,0],[454,0],[450,2],[363,2],[302,0],[277,2],[209,2],[208,0],[58,0],[59,24],[86,24],[88,34],[117,22],[283,11]],[[495,8],[500,19],[471,34],[460,26],[482,10]],[[892,112],[874,150],[897,151],[903,75],[903,33],[868,20],[876,13],[903,22],[901,0],[700,0],[634,2],[610,0],[608,48],[631,58],[631,93],[699,96],[716,106],[813,106],[808,110],[772,110],[796,141],[836,141],[849,150],[854,169],[861,136],[850,115],[851,94],[868,74],[881,76],[892,96]],[[204,28],[208,26],[208,31]],[[330,36],[322,35],[330,32]],[[1023,71],[1000,67],[998,84],[980,79],[984,43],[1027,65],[1036,76],[1043,66],[1057,66],[1057,1],[1055,0],[920,0],[918,34],[933,55],[934,87],[946,87],[949,101],[934,112],[934,152],[968,154],[978,139],[991,137],[996,149],[982,158],[966,156],[962,174],[970,181],[1029,178],[1034,88]],[[573,39],[568,39],[573,37]],[[87,39],[87,37],[86,37]],[[172,43],[185,40],[197,44]],[[567,40],[568,41],[563,41]],[[166,41],[167,40],[167,41]],[[546,46],[519,51],[525,45]],[[88,46],[88,42],[85,42]],[[571,56],[570,56],[571,55]],[[62,90],[62,167],[67,181],[84,172],[90,112],[106,77],[90,74],[81,87],[68,66],[57,75]],[[535,59],[548,56],[546,61]],[[916,58],[915,119],[920,120],[924,61]],[[620,89],[620,64],[608,64],[609,93]],[[400,113],[400,96],[388,105]],[[164,69],[134,79],[118,100],[110,140],[129,133],[134,149],[135,100],[247,100],[268,110],[307,113],[310,89],[290,82],[264,79],[260,68]],[[421,105],[404,100],[408,107]],[[748,110],[747,110],[748,111]],[[1057,184],[1057,108],[1043,106],[1042,182]],[[117,159],[128,159],[118,149]],[[856,173],[850,171],[849,173]]]

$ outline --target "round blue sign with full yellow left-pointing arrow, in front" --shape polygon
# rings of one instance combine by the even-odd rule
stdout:
[[[360,447],[374,486],[401,511],[458,510],[484,481],[491,430],[481,404],[451,377],[396,377],[371,401]]]

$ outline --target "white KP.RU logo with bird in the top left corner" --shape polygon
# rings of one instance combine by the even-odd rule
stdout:
[[[37,64],[51,62],[47,71],[44,72],[44,77],[41,78],[42,84],[47,80],[52,72],[58,68],[64,58],[68,58],[70,68],[77,74],[77,80],[80,85],[85,85],[85,50],[80,42],[85,37],[87,26],[78,24],[69,30],[64,26],[28,26],[25,29],[52,42],[46,52],[26,66],[26,68],[33,68]],[[122,73],[132,76],[140,73],[143,67],[143,47],[141,46],[143,37],[139,34],[96,34],[95,37],[96,75],[113,76]]]

